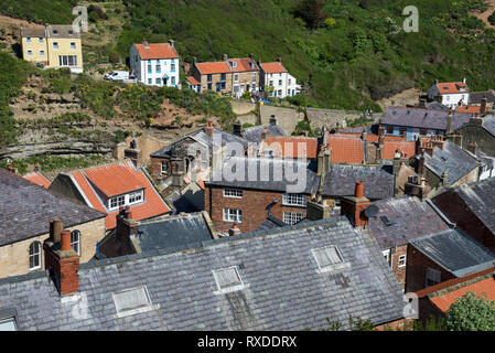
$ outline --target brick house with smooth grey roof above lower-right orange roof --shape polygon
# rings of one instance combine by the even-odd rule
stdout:
[[[406,290],[493,268],[495,255],[461,229],[448,229],[409,240]]]

